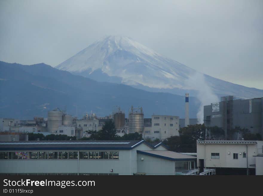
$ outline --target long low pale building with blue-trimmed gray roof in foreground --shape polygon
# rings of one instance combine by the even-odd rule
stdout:
[[[0,142],[0,174],[182,175],[196,157],[142,141]]]

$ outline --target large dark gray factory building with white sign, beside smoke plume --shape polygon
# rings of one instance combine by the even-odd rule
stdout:
[[[263,97],[246,100],[221,97],[220,102],[204,106],[204,124],[221,127],[225,134],[240,126],[263,136]]]

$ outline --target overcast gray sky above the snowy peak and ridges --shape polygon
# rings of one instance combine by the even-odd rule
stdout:
[[[263,89],[262,0],[0,0],[0,61],[56,66],[105,35]]]

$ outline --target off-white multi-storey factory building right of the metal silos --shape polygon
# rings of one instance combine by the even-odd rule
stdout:
[[[152,120],[146,119],[145,122],[144,139],[164,140],[171,136],[179,136],[179,116],[152,115]]]

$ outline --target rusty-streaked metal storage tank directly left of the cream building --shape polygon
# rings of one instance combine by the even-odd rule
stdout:
[[[144,128],[143,108],[131,107],[129,110],[129,133],[142,133]]]

